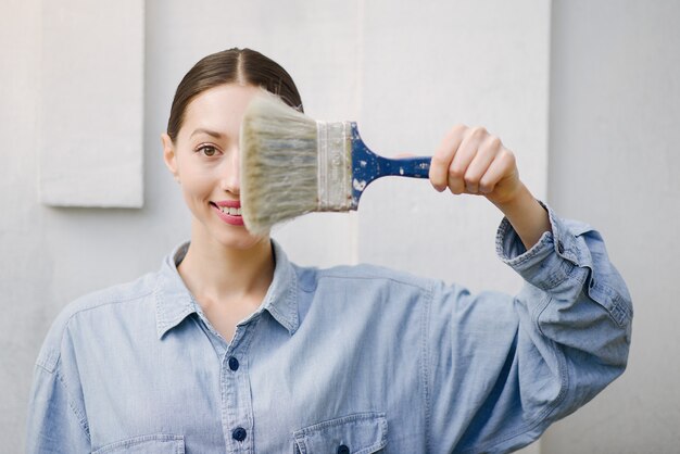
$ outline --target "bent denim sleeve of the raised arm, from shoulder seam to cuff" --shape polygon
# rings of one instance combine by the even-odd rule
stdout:
[[[558,218],[527,251],[507,219],[496,250],[515,295],[439,286],[426,342],[429,447],[509,452],[590,401],[626,368],[632,305],[600,234]]]

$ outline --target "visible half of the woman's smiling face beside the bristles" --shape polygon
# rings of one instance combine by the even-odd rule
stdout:
[[[193,214],[193,241],[237,249],[268,241],[245,229],[239,200],[239,129],[248,103],[260,91],[238,84],[205,90],[187,105],[175,142],[162,137],[165,163]]]

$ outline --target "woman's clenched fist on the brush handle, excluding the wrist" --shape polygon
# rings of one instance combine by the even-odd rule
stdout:
[[[484,196],[506,203],[522,187],[515,155],[482,127],[454,126],[432,156],[430,182],[439,192]]]

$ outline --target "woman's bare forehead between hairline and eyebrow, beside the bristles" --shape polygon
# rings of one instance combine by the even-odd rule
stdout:
[[[240,126],[245,108],[261,90],[252,85],[239,84],[225,84],[205,90],[187,105],[184,126],[196,126],[205,122],[226,127]]]

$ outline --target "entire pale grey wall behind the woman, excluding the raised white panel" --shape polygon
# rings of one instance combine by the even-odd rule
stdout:
[[[38,202],[43,10],[40,0],[0,0],[2,452],[22,451],[33,362],[59,311],[158,268],[188,237],[189,213],[161,162],[159,135],[184,73],[232,46],[279,61],[312,116],[358,121],[383,154],[429,153],[459,122],[498,134],[537,197],[604,232],[638,303],[630,370],[551,429],[541,452],[672,452],[680,396],[663,390],[675,389],[678,366],[655,352],[678,350],[668,299],[679,219],[670,201],[677,4],[555,1],[552,26],[551,2],[536,0],[144,5],[144,206],[54,209]],[[473,290],[518,288],[494,257],[500,216],[483,200],[452,199],[423,181],[374,185],[358,213],[305,216],[275,237],[301,264],[373,262]]]

